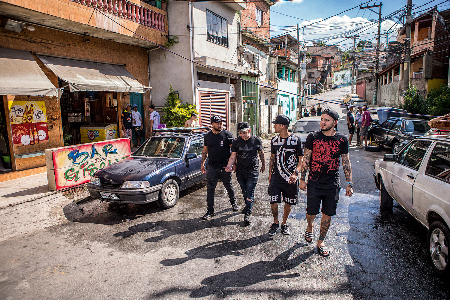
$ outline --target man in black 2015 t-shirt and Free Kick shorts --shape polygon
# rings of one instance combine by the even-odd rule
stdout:
[[[288,131],[291,120],[287,116],[278,115],[274,124],[275,133],[270,143],[270,164],[269,164],[269,202],[270,210],[274,216],[274,223],[270,225],[269,234],[277,233],[278,203],[284,201],[283,222],[281,223],[281,233],[290,234],[289,226],[286,224],[291,206],[297,204],[298,197],[298,173],[301,170],[303,161],[302,141]],[[283,193],[283,198],[281,194]]]

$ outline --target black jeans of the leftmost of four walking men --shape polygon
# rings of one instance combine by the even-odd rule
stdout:
[[[224,168],[216,169],[211,166],[207,166],[206,169],[206,179],[207,179],[207,208],[208,210],[214,210],[214,194],[216,191],[217,181],[220,179],[224,184],[225,189],[228,192],[228,197],[230,202],[236,201],[234,197],[234,187],[231,183],[231,172],[225,171]]]

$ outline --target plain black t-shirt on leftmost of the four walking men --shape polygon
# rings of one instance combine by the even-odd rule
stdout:
[[[228,165],[231,152],[229,145],[233,143],[233,134],[228,130],[222,129],[218,134],[209,131],[205,134],[205,146],[208,147],[208,166],[221,169]]]

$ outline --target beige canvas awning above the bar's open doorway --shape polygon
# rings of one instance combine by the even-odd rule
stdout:
[[[148,91],[148,87],[141,85],[123,66],[43,55],[37,55],[37,57],[50,71],[69,84],[71,92],[95,90],[145,93]]]

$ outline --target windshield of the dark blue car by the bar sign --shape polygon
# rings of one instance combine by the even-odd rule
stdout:
[[[133,156],[165,156],[181,157],[184,148],[184,138],[153,137],[142,145]]]

